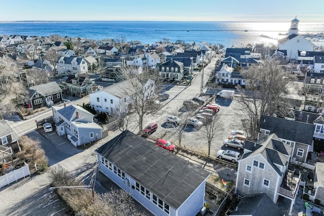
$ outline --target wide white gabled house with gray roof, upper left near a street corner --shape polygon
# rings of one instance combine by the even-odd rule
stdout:
[[[70,75],[75,73],[88,73],[88,63],[82,57],[60,57],[56,63],[58,75]]]

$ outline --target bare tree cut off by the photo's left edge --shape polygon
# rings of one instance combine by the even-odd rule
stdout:
[[[16,79],[18,68],[9,58],[0,58],[0,119],[17,111],[17,104],[27,98],[28,92]]]

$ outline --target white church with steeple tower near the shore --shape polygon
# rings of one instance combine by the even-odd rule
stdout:
[[[288,35],[278,40],[277,48],[287,50],[287,58],[298,59],[298,51],[313,51],[314,44],[298,34],[298,19],[291,21]]]

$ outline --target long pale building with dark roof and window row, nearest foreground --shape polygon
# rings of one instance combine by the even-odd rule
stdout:
[[[99,170],[153,215],[194,216],[204,207],[205,169],[124,131],[99,147]]]

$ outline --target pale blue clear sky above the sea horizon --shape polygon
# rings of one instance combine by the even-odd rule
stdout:
[[[324,1],[301,0],[16,0],[0,21],[324,22]]]

